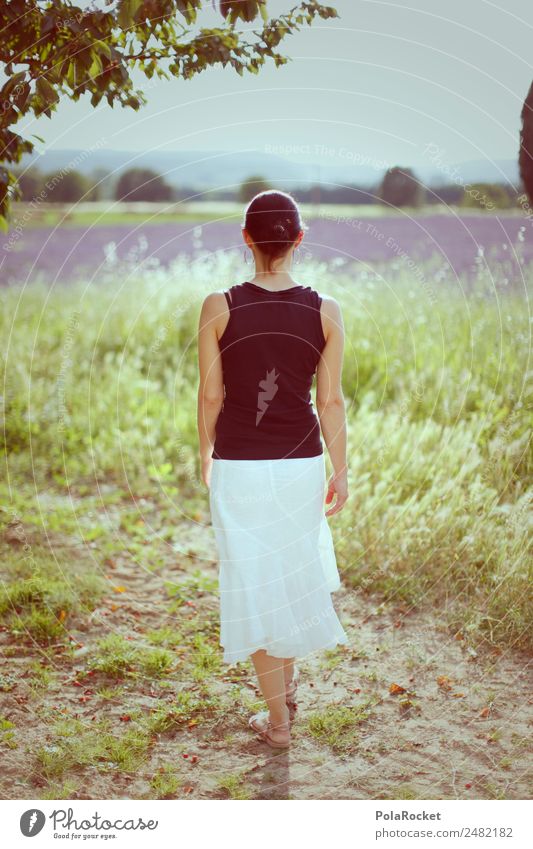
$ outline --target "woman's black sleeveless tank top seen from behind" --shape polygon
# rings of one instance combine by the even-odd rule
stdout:
[[[271,292],[248,281],[224,295],[230,310],[219,339],[225,397],[211,456],[270,460],[322,454],[311,400],[326,344],[322,298],[310,286]]]

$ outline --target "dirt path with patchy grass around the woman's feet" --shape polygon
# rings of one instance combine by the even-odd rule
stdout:
[[[179,540],[157,573],[108,562],[121,591],[69,626],[76,654],[57,646],[41,663],[31,641],[0,633],[0,716],[12,724],[0,732],[2,798],[530,797],[530,660],[476,652],[435,610],[383,608],[347,589],[334,598],[350,646],[302,662],[291,750],[266,747],[247,728],[260,706],[251,666],[219,666],[212,530],[184,524]],[[106,633],[153,645],[154,630],[186,634],[167,640],[167,674],[91,667]],[[192,699],[179,715],[178,692]],[[147,745],[143,723],[164,714]],[[118,754],[99,748],[102,729],[122,740]]]

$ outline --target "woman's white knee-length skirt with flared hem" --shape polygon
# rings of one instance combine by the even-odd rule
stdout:
[[[305,657],[348,643],[331,600],[341,584],[325,493],[324,454],[213,459],[209,505],[225,663],[258,649]]]

